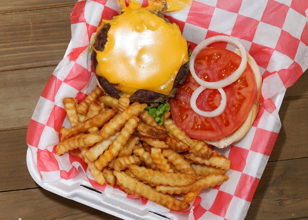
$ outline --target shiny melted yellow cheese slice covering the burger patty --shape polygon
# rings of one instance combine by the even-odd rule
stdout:
[[[120,96],[139,89],[169,95],[188,48],[178,26],[136,5],[112,20],[104,51],[97,53],[95,73],[116,85]]]

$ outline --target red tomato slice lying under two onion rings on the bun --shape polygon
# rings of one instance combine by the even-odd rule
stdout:
[[[205,81],[222,80],[240,65],[241,57],[225,48],[202,49],[195,60],[195,72]],[[215,118],[205,118],[193,111],[190,98],[200,85],[189,73],[187,81],[178,85],[175,99],[169,100],[172,118],[182,131],[191,138],[218,139],[235,131],[247,118],[257,95],[254,73],[247,67],[234,83],[224,87],[227,106],[223,114]],[[197,98],[197,107],[202,111],[213,111],[220,105],[221,95],[217,89],[205,89]]]

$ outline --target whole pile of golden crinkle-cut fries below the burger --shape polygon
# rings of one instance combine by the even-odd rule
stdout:
[[[170,112],[160,126],[144,110],[146,104],[130,105],[129,98],[103,95],[98,87],[80,104],[71,97],[63,104],[72,127],[61,128],[57,155],[77,155],[100,185],[116,184],[130,195],[180,211],[188,209],[202,189],[229,179],[224,174],[231,161],[188,137]]]

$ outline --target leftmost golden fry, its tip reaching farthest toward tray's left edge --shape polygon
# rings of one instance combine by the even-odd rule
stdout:
[[[58,143],[56,147],[57,155],[73,150],[78,147],[88,147],[99,142],[102,138],[95,134],[79,134]]]

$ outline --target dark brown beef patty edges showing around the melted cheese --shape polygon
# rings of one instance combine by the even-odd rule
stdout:
[[[168,19],[164,18],[163,15],[158,14],[157,16],[163,18],[167,22],[169,22]],[[110,28],[110,24],[104,24],[103,27],[99,30],[99,33],[96,35],[94,48],[98,51],[103,51],[105,48],[105,44],[107,43],[107,32]],[[98,64],[96,60],[96,52],[92,52],[92,60],[93,60],[93,67],[94,70],[96,69],[96,66]],[[176,78],[174,80],[174,85],[172,87],[172,90],[169,95],[164,95],[160,93],[156,93],[150,90],[144,90],[140,89],[136,91],[129,99],[130,102],[139,102],[139,103],[146,103],[151,108],[158,107],[160,103],[165,103],[169,98],[175,98],[177,89],[176,85],[182,85],[188,76],[189,71],[189,62],[185,63],[181,66],[179,72],[176,75]],[[120,98],[119,91],[117,91],[114,87],[114,84],[111,84],[108,82],[104,77],[96,76],[98,79],[98,82],[100,86],[106,90],[107,93],[109,93],[112,97]]]

